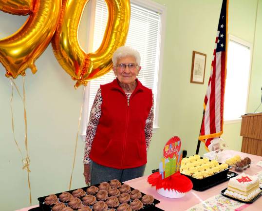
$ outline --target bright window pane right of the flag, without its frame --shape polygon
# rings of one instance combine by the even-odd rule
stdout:
[[[224,120],[236,120],[246,112],[251,44],[229,35],[225,81]]]

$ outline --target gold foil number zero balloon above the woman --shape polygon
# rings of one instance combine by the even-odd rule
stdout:
[[[100,47],[86,54],[77,40],[82,11],[88,0],[64,0],[60,20],[52,40],[56,59],[77,80],[75,87],[102,76],[112,68],[112,54],[126,42],[130,22],[130,0],[105,0],[108,22]]]

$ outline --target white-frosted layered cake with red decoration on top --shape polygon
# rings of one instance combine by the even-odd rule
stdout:
[[[258,176],[242,173],[229,180],[224,194],[242,201],[250,201],[260,192]]]

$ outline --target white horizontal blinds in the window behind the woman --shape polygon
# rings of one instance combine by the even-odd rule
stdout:
[[[96,0],[94,18],[93,52],[98,49],[107,24],[107,5],[104,0]],[[138,79],[151,88],[156,99],[157,75],[160,48],[160,14],[146,7],[131,2],[131,20],[126,45],[137,49],[141,55],[141,70]],[[100,84],[112,82],[113,71],[90,82],[89,111]]]

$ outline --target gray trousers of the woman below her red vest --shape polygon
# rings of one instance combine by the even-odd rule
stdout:
[[[146,165],[131,169],[114,169],[105,167],[91,161],[91,185],[118,179],[120,182],[141,177],[144,174]]]

